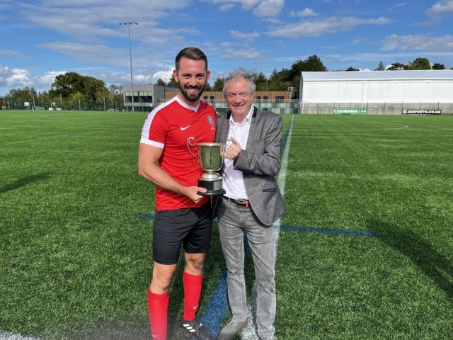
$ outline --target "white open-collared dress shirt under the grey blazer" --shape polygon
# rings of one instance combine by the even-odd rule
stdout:
[[[250,108],[246,119],[241,124],[234,121],[233,115],[229,118],[229,132],[228,137],[233,137],[241,145],[241,149],[246,149],[248,131],[250,130],[250,124],[253,115],[253,106]],[[234,159],[225,158],[224,161],[224,189],[226,191],[225,196],[233,198],[234,200],[248,199],[246,193],[246,186],[243,183],[242,171],[235,170]]]

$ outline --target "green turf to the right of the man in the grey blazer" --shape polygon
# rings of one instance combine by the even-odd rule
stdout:
[[[453,117],[296,116],[285,223],[379,237],[280,234],[282,339],[452,339],[452,132]]]

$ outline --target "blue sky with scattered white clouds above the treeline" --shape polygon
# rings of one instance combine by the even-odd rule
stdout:
[[[130,51],[134,84],[168,81],[188,46],[207,55],[211,85],[311,55],[329,71],[417,57],[449,69],[452,19],[453,0],[0,0],[0,96],[48,91],[65,72],[130,84]]]

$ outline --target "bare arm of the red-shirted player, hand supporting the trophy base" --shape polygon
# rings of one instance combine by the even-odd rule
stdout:
[[[140,143],[139,145],[139,176],[142,176],[147,181],[154,183],[160,188],[168,191],[179,193],[187,196],[194,202],[203,198],[197,194],[197,191],[205,192],[205,188],[198,186],[183,186],[171,177],[166,171],[162,170],[158,165],[163,149]]]

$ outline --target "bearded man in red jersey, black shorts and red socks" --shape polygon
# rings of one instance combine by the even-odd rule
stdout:
[[[200,96],[210,78],[207,57],[196,47],[176,56],[173,79],[180,93],[149,113],[139,145],[139,175],[154,183],[156,214],[153,229],[154,267],[148,290],[153,339],[164,340],[170,286],[181,246],[184,247],[184,313],[181,326],[196,339],[212,339],[211,331],[195,317],[202,288],[205,253],[210,248],[212,208],[210,198],[197,186],[202,168],[193,143],[213,142],[216,113]]]

